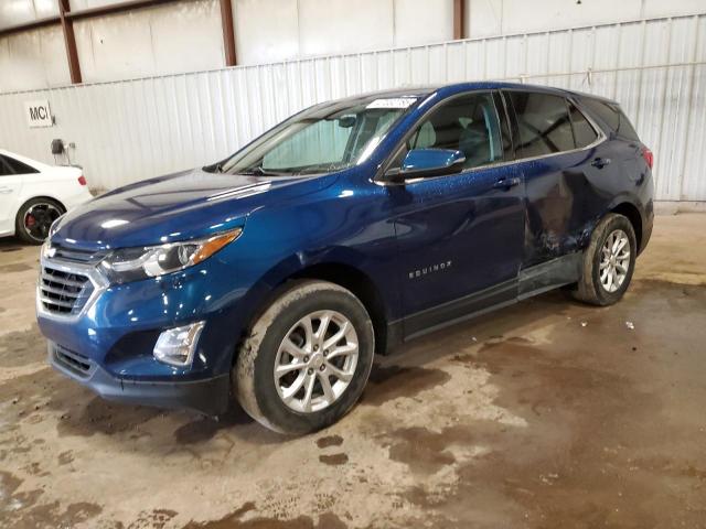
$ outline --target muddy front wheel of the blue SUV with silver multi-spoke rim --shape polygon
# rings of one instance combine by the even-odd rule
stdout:
[[[329,328],[318,337],[327,319]],[[340,333],[344,334],[330,345]],[[233,368],[234,393],[245,411],[270,430],[292,435],[314,432],[336,422],[359,400],[374,350],[373,324],[353,293],[325,281],[295,281],[258,317],[243,343]],[[276,366],[290,370],[277,378]],[[333,374],[334,367],[342,378]]]

